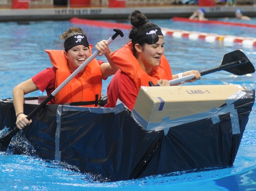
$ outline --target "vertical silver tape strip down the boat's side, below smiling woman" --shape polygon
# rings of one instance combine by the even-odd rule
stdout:
[[[58,105],[56,112],[56,132],[55,132],[55,160],[61,161],[61,151],[60,151],[60,136],[61,136],[61,115],[62,115],[62,105]]]

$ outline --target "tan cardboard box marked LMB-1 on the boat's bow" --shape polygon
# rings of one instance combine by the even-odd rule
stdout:
[[[146,130],[153,130],[152,124],[160,130],[164,121],[177,121],[233,103],[243,96],[242,90],[246,88],[238,85],[141,87],[132,117]]]

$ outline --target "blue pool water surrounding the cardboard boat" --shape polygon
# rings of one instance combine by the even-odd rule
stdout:
[[[160,27],[201,31],[208,33],[255,37],[255,29],[202,25],[198,23],[173,22],[170,19],[151,20]],[[236,21],[230,19],[230,21]],[[250,21],[256,24],[256,19]],[[18,83],[51,67],[44,49],[63,49],[58,40],[64,30],[72,27],[69,21],[30,22],[18,25],[16,22],[0,23],[0,98],[12,98],[12,89]],[[76,25],[88,34],[90,43],[108,39],[112,29]],[[128,41],[117,37],[111,44],[116,50]],[[198,69],[203,71],[221,64],[222,57],[240,49],[252,63],[256,63],[256,48],[242,47],[241,44],[223,45],[204,41],[189,41],[165,36],[165,55],[171,64],[173,74]],[[94,52],[94,51],[93,51]],[[104,57],[97,57],[106,61]],[[256,66],[256,65],[254,65]],[[111,78],[104,81],[103,94]],[[240,84],[247,89],[255,89],[256,75],[234,76],[226,71],[206,75],[200,81],[189,85]],[[36,91],[26,96],[42,96]],[[151,176],[142,179],[119,182],[95,182],[83,173],[70,170],[73,167],[60,166],[54,161],[45,161],[29,155],[13,155],[12,151],[0,152],[1,190],[256,190],[256,110],[250,114],[244,136],[231,168],[207,170],[203,172],[175,172],[168,175]],[[23,143],[24,144],[24,143]],[[29,145],[26,145],[28,147]],[[26,149],[26,148],[25,148]],[[29,152],[28,152],[29,153]]]

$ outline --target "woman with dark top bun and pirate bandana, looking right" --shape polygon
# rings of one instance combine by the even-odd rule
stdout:
[[[161,29],[149,22],[140,11],[133,11],[129,18],[133,26],[129,33],[131,41],[111,55],[112,62],[120,69],[108,86],[108,103],[105,107],[115,107],[119,99],[132,110],[140,87],[148,86],[149,81],[169,86],[169,80],[191,74],[195,74],[195,77],[186,82],[201,79],[197,70],[172,75],[164,56],[164,36]]]

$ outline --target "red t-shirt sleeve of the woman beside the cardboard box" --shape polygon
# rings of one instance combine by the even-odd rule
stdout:
[[[130,110],[133,109],[138,91],[135,83],[121,69],[116,71],[107,88],[108,103],[104,107],[114,108],[119,99]]]

